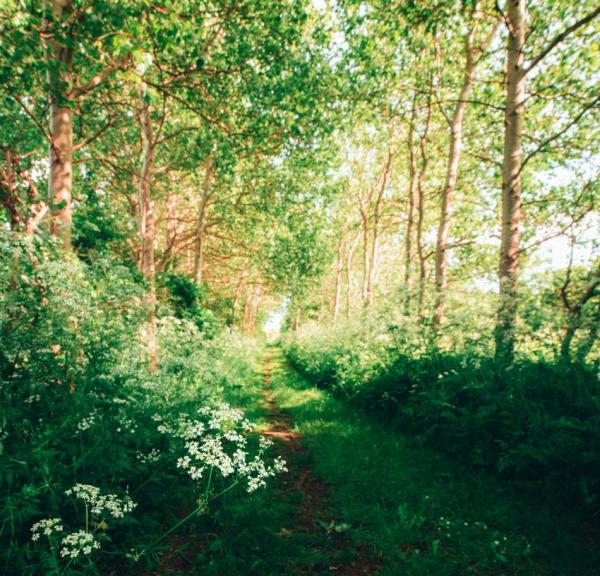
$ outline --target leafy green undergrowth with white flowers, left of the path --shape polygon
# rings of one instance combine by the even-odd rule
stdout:
[[[182,510],[202,520],[216,494],[281,469],[222,403],[252,370],[236,334],[163,317],[149,371],[144,289],[127,268],[36,238],[1,242],[0,572],[151,566]]]

